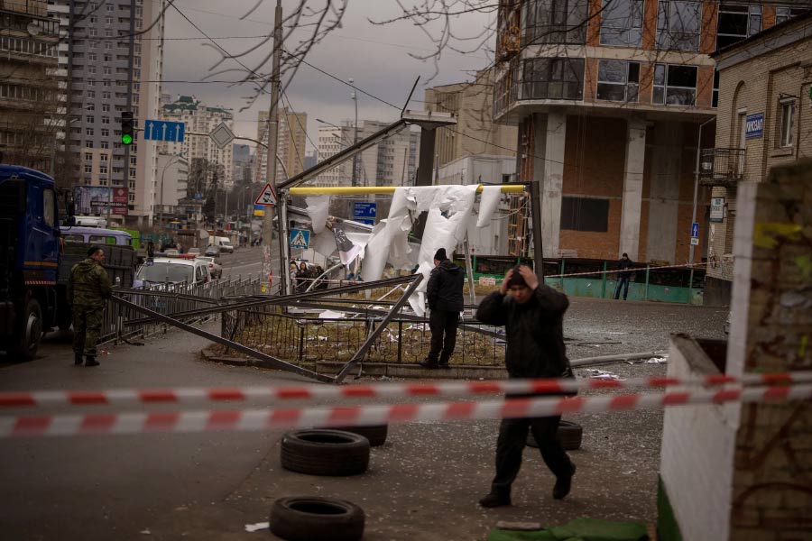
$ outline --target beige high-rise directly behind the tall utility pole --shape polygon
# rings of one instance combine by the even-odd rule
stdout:
[[[260,111],[257,116],[256,138],[268,144],[268,112]],[[308,138],[308,114],[295,113],[284,107],[279,112],[279,136],[277,137],[281,165],[276,162],[276,179],[285,180],[305,170],[305,145]],[[264,182],[268,175],[268,152],[263,147],[256,151],[256,181]]]

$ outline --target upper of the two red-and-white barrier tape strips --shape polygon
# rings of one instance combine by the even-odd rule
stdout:
[[[678,385],[780,385],[812,383],[812,371],[744,374],[734,378],[720,374],[700,378],[631,378],[625,381],[593,379],[547,379],[502,381],[448,381],[425,383],[378,383],[374,385],[285,385],[219,389],[180,388],[154,390],[38,390],[0,393],[0,410],[46,406],[133,406],[138,404],[188,404],[199,402],[251,402],[285,399],[372,399],[411,397],[474,397],[493,393],[554,394],[585,389],[661,388]]]

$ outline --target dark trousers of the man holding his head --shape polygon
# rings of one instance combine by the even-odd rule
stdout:
[[[492,491],[510,494],[511,485],[521,468],[521,452],[527,445],[528,427],[539,445],[541,458],[556,477],[572,474],[572,463],[558,441],[558,421],[561,417],[532,417],[503,419],[496,440],[496,475]]]

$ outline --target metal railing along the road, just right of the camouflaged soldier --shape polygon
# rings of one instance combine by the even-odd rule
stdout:
[[[236,279],[212,280],[205,284],[160,284],[152,289],[119,289],[115,295],[123,296],[140,307],[146,307],[164,315],[176,314],[199,308],[217,306],[228,297],[255,295],[261,288],[259,276]],[[212,316],[202,316],[205,320]],[[131,325],[128,322],[143,319],[134,308],[124,307],[108,300],[99,342],[148,336],[163,332],[166,324],[150,322]]]

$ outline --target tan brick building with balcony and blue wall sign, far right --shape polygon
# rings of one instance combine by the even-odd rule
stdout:
[[[711,187],[706,304],[728,304],[737,185],[812,156],[812,14],[780,23],[714,55],[719,71],[715,148],[703,151]]]

